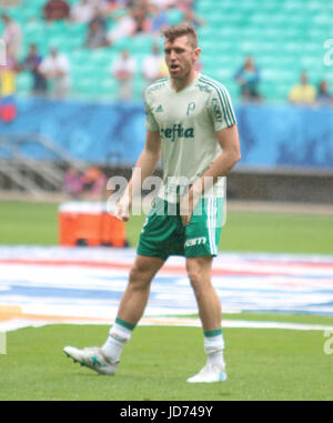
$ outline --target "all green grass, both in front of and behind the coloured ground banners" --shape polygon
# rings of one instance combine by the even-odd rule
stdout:
[[[133,218],[128,238],[135,245],[143,222]],[[0,244],[58,244],[58,205],[0,202]],[[230,212],[222,251],[333,254],[333,216]],[[333,316],[231,314],[228,319],[320,323]],[[190,385],[204,364],[196,328],[139,326],[117,376],[98,376],[73,364],[62,349],[100,345],[104,325],[49,325],[8,333],[0,355],[0,400],[189,400],[266,401],[333,397],[333,355],[324,354],[322,331],[223,330],[229,381]]]

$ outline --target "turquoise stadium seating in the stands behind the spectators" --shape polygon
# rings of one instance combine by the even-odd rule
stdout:
[[[68,1],[73,4],[78,0]],[[39,46],[42,54],[48,53],[50,46],[58,46],[71,62],[71,79],[75,81],[73,92],[99,98],[105,95],[105,87],[113,84],[109,69],[114,57],[122,49],[129,49],[138,61],[134,91],[137,99],[141,99],[143,81],[140,66],[155,40],[148,36],[129,37],[118,40],[112,48],[89,51],[83,47],[87,24],[64,21],[47,24],[42,19],[44,3],[46,0],[29,0],[24,6],[9,10],[9,14],[21,23],[23,30],[21,57],[32,42]],[[233,75],[246,56],[252,56],[260,67],[261,87],[266,100],[285,99],[287,88],[297,81],[301,70],[307,71],[313,83],[322,78],[333,83],[333,74],[323,62],[323,42],[332,38],[331,2],[196,0],[195,10],[206,22],[198,29],[203,50],[203,72],[220,78],[230,92],[239,93]],[[176,10],[169,12],[172,23],[176,23],[181,17],[182,13]],[[108,27],[112,23],[110,18]],[[2,30],[3,24],[0,22]],[[28,82],[27,75],[18,77],[19,93],[27,92]],[[114,92],[113,89],[107,91]]]

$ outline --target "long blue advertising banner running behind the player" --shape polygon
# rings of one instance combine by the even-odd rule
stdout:
[[[17,119],[0,123],[2,138],[42,134],[73,158],[100,164],[132,165],[144,145],[142,102],[21,98],[17,105]],[[239,104],[235,113],[242,149],[238,168],[333,170],[333,108]],[[33,143],[21,149],[34,159],[47,158]],[[0,155],[8,151],[0,148]]]

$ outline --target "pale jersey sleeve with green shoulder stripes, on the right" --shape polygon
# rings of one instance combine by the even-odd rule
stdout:
[[[215,132],[236,124],[229,92],[221,84],[215,85],[211,91],[209,98],[209,113]]]

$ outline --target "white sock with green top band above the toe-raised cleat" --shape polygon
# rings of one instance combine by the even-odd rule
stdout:
[[[131,339],[134,325],[117,318],[109,338],[102,346],[103,353],[112,361],[119,361],[125,343]]]

